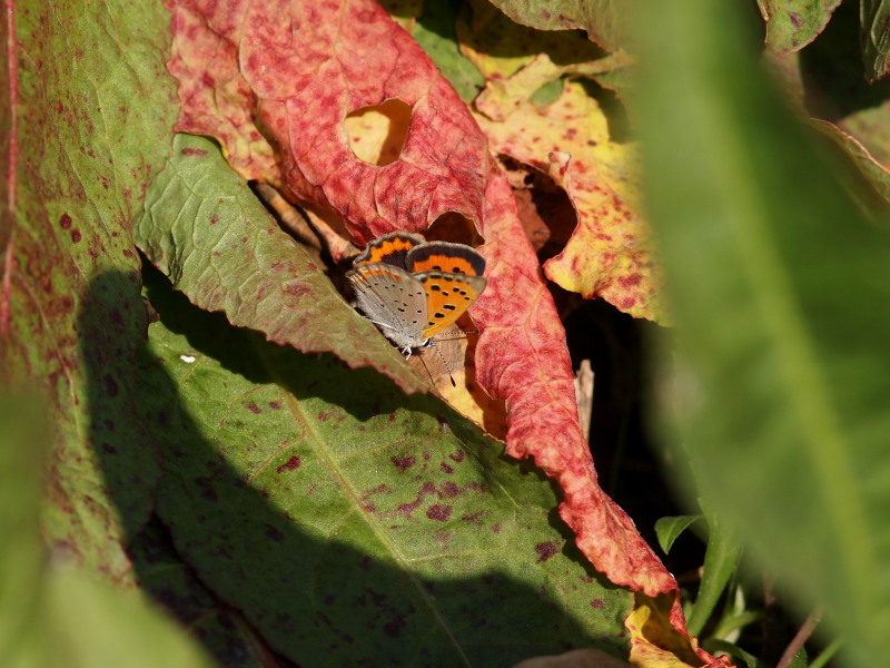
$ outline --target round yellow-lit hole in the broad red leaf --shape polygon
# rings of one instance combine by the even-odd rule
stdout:
[[[411,106],[399,99],[362,107],[344,121],[349,148],[365,163],[389,165],[398,159],[411,125]]]

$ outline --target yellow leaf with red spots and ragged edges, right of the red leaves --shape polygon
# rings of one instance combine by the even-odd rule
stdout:
[[[640,210],[635,145],[610,140],[596,100],[567,84],[546,107],[522,102],[503,121],[477,119],[494,150],[551,174],[577,214],[565,249],[544,265],[547,277],[633,315],[664,321],[661,274]]]

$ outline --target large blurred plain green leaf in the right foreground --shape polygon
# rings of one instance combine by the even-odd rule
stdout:
[[[734,4],[646,11],[637,111],[681,436],[702,497],[867,666],[890,637],[890,238],[764,80]]]

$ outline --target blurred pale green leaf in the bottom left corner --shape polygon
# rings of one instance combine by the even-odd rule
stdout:
[[[0,656],[4,668],[209,668],[185,632],[131,591],[77,570],[40,540],[43,412],[0,397]]]

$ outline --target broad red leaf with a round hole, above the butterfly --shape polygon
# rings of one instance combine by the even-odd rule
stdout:
[[[333,208],[357,240],[425,229],[448,212],[482,224],[485,137],[373,0],[174,0],[171,9],[178,128],[217,137],[243,176]],[[398,158],[360,159],[345,119],[394,100],[411,115]]]

